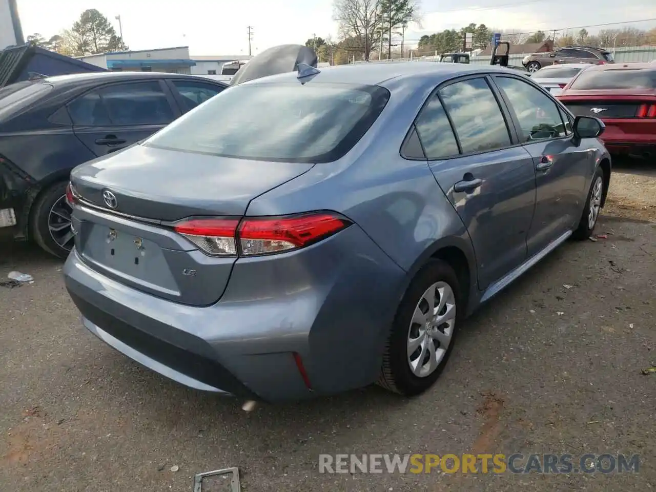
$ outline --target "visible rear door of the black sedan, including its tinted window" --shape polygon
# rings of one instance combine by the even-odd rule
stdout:
[[[147,138],[180,115],[160,80],[103,85],[68,103],[77,138],[95,155],[106,155]]]

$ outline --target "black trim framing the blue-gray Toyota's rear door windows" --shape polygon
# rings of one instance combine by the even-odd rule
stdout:
[[[517,133],[517,129],[515,127],[515,123],[512,120],[512,115],[508,110],[506,100],[504,98],[502,98],[501,92],[499,91],[499,89],[495,85],[495,83],[493,83],[493,81],[491,79],[492,75],[494,75],[494,74],[490,73],[490,72],[470,73],[468,75],[462,75],[461,77],[455,77],[453,79],[445,80],[445,81],[441,82],[440,84],[438,84],[438,86],[435,87],[435,89],[430,91],[430,94],[428,95],[428,97],[424,101],[424,104],[422,104],[421,108],[419,109],[419,112],[417,112],[417,115],[415,116],[415,119],[413,119],[413,123],[410,126],[409,130],[407,131],[407,133],[405,135],[405,138],[403,138],[403,143],[401,144],[401,148],[400,148],[401,157],[403,157],[403,159],[405,159],[407,161],[429,161],[429,162],[430,161],[445,161],[445,160],[448,160],[448,159],[459,159],[460,157],[469,157],[470,155],[488,154],[489,152],[499,152],[499,150],[506,150],[506,149],[522,146],[522,143],[520,142],[520,138],[519,138],[518,133]],[[453,121],[451,120],[451,115],[447,111],[446,106],[444,106],[444,102],[443,102],[443,100],[440,96],[439,91],[441,89],[443,89],[444,87],[448,87],[449,85],[452,85],[452,84],[455,84],[455,83],[458,83],[458,82],[462,82],[462,81],[471,80],[471,79],[485,79],[488,87],[490,88],[490,90],[492,91],[493,96],[495,97],[495,100],[497,100],[497,104],[499,105],[499,110],[501,110],[501,115],[503,116],[504,123],[506,123],[506,130],[508,131],[508,136],[510,137],[510,145],[505,146],[505,147],[501,147],[501,148],[498,148],[498,149],[493,149],[493,150],[482,150],[480,152],[468,152],[467,154],[462,153],[462,145],[461,145],[461,142],[460,142],[460,138],[458,137],[458,134],[454,129]],[[428,106],[428,102],[430,102],[430,100],[436,95],[438,96],[438,99],[440,100],[440,104],[442,105],[442,108],[444,109],[444,113],[447,115],[447,119],[449,119],[449,126],[451,127],[451,131],[453,132],[453,136],[455,136],[455,141],[458,145],[458,149],[460,151],[460,154],[447,155],[445,157],[440,157],[440,159],[430,159],[430,157],[428,157],[428,155],[426,155],[426,152],[424,150],[424,155],[426,155],[426,157],[424,157],[423,159],[419,159],[419,158],[416,158],[416,157],[415,158],[407,157],[405,155],[405,152],[403,152],[403,149],[407,145],[407,142],[409,142],[409,139],[411,138],[412,133],[416,131],[415,130],[416,129],[415,125],[416,125],[417,120],[419,119],[419,117],[424,112],[424,108],[426,108],[426,106]],[[421,137],[419,136],[419,133],[417,133],[417,137],[419,138],[419,142],[422,146],[422,149],[424,149],[424,144],[421,141]]]

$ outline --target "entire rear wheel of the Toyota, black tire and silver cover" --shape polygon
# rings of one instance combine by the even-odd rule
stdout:
[[[380,386],[405,396],[432,386],[453,350],[460,298],[457,276],[447,263],[432,260],[420,270],[394,319]]]

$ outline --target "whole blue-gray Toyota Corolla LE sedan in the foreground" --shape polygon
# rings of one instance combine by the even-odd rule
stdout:
[[[604,206],[604,125],[496,66],[237,84],[75,168],[82,321],[182,384],[283,401],[429,388],[468,314]]]

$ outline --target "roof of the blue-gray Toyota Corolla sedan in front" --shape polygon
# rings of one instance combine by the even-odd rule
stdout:
[[[514,73],[518,70],[503,68],[496,65],[439,63],[439,62],[387,62],[367,63],[355,65],[340,65],[319,69],[317,75],[308,77],[308,81],[319,83],[352,83],[358,85],[384,85],[386,81],[394,79],[430,79],[440,83],[468,73]],[[244,84],[257,83],[285,83],[298,81],[296,72],[279,73],[244,82]]]

